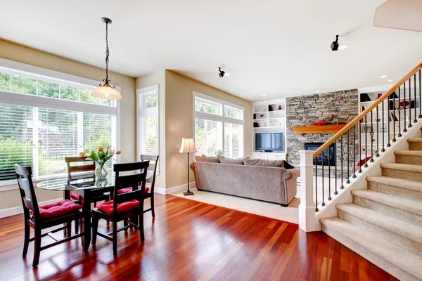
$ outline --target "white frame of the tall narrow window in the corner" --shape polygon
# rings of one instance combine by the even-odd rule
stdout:
[[[152,93],[155,92],[155,93]],[[146,96],[157,96],[157,103],[155,107],[141,108],[139,107],[139,100]],[[160,155],[160,85],[156,84],[141,89],[136,89],[136,159],[141,155],[141,122],[139,119],[146,116],[157,117],[157,153]],[[160,161],[157,164],[156,174],[160,174]]]

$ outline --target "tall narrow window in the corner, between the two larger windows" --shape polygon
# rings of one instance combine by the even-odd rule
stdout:
[[[158,90],[158,85],[136,90],[139,155],[160,154],[158,151]]]

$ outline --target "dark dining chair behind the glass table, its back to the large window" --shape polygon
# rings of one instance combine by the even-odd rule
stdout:
[[[75,156],[75,157],[65,157],[66,165],[68,166],[68,185],[72,181],[78,179],[87,179],[92,178],[92,181],[95,181],[95,163],[92,160],[87,160],[86,156]],[[73,191],[65,191],[65,199],[70,199],[76,204],[82,204],[82,195]],[[110,200],[110,194],[98,192],[98,195],[92,198],[91,203],[96,203],[100,201],[107,202]],[[78,223],[75,223],[75,233],[78,232],[79,226]]]

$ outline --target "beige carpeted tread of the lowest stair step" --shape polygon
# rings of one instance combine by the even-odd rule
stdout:
[[[321,218],[321,223],[326,228],[331,228],[337,232],[341,237],[346,238],[355,244],[359,244],[367,251],[380,257],[384,260],[384,263],[390,263],[405,273],[414,276],[415,280],[422,277],[421,256],[418,256],[411,251],[407,251],[358,226],[354,226],[352,223],[343,221],[341,218]],[[376,261],[373,262],[377,264]],[[389,268],[383,269],[389,271]]]

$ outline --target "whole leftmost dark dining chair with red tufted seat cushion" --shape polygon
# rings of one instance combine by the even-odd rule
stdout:
[[[71,200],[62,200],[51,204],[39,206],[37,196],[35,195],[34,185],[32,183],[32,171],[30,166],[15,166],[16,178],[18,178],[18,186],[20,197],[23,204],[23,214],[25,218],[25,240],[23,244],[23,254],[27,255],[28,244],[34,241],[34,260],[32,266],[37,267],[39,263],[39,254],[42,250],[56,246],[58,244],[68,242],[70,240],[82,237],[82,233],[70,236],[72,221],[82,219],[81,206],[75,204]],[[41,234],[41,230],[59,226],[65,223],[66,226],[56,228],[49,233]],[[30,228],[34,228],[34,237],[30,238]],[[57,240],[51,233],[68,228],[68,235],[63,240]],[[53,240],[51,244],[41,247],[41,237],[49,235]]]

